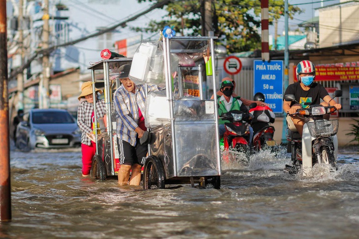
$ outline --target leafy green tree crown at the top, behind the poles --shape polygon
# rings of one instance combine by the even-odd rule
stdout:
[[[161,0],[138,0],[139,2],[159,2]],[[174,0],[164,9],[168,15],[152,20],[138,31],[156,32],[164,26],[174,26],[181,35],[199,36],[202,31],[205,0]],[[260,0],[211,0],[212,29],[229,53],[250,51],[261,48]],[[289,5],[289,17],[300,13],[299,7]],[[284,0],[269,0],[269,24],[284,16]]]

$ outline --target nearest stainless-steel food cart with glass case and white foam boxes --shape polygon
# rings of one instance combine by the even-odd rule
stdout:
[[[149,156],[144,189],[191,184],[220,188],[220,148],[216,95],[215,37],[164,37],[165,90],[149,92],[146,126]],[[132,67],[135,67],[135,56]],[[132,70],[131,67],[131,70]],[[131,74],[130,74],[131,79]]]

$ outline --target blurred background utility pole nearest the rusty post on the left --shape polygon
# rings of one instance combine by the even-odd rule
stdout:
[[[19,52],[20,52],[20,66],[24,63],[24,16],[23,16],[24,1],[19,0],[19,16],[18,16],[18,33],[19,33]],[[18,107],[17,109],[24,109],[24,72],[17,75],[17,95]]]

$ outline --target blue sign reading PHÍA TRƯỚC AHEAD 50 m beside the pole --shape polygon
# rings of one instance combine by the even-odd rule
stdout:
[[[283,111],[283,61],[254,61],[254,94],[262,92],[275,113]]]

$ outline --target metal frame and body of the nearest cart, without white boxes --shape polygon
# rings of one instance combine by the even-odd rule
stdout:
[[[165,188],[170,184],[188,184],[199,187],[220,187],[221,160],[218,133],[218,108],[216,97],[215,53],[216,37],[163,38],[166,97],[170,118],[162,126],[153,128],[149,157],[146,159],[143,186]],[[207,43],[207,44],[206,44]],[[193,45],[192,49],[190,46]],[[179,47],[176,47],[179,46]],[[184,46],[184,47],[183,47]],[[198,71],[199,97],[184,95],[181,66],[171,69],[171,54],[186,53],[196,56],[210,53],[214,99],[205,100],[203,95],[203,69],[200,61],[186,67]],[[201,57],[199,57],[201,59]],[[173,89],[172,73],[178,71],[179,92]],[[173,81],[175,81],[174,79]],[[202,112],[198,118],[183,116],[186,106],[197,106]],[[196,114],[198,116],[199,114]],[[187,118],[186,118],[187,117]],[[198,185],[197,185],[198,183]]]

